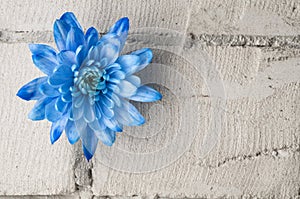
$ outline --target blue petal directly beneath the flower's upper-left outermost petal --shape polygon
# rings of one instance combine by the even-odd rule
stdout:
[[[35,54],[32,61],[46,75],[51,75],[58,65],[56,55]]]

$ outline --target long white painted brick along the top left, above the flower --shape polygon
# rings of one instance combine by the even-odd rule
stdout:
[[[52,30],[53,22],[64,12],[72,11],[84,28],[94,26],[107,31],[117,19],[127,16],[131,27],[159,27],[184,32],[189,2],[181,0],[126,0],[126,1],[43,1],[2,0],[1,29],[41,31]]]

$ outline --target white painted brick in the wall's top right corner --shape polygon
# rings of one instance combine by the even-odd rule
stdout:
[[[193,1],[188,32],[194,34],[297,35],[299,1]]]

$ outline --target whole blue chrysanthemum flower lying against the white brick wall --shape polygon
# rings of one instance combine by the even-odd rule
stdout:
[[[120,55],[128,29],[129,20],[124,17],[101,38],[93,27],[84,34],[75,15],[67,12],[54,23],[58,51],[48,45],[29,45],[33,63],[45,76],[24,85],[17,96],[37,100],[28,116],[52,122],[51,143],[65,131],[71,144],[81,139],[89,160],[99,140],[111,146],[123,126],[145,122],[129,100],[162,98],[134,75],[151,62],[151,50]]]

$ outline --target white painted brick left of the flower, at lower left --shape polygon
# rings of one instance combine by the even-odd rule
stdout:
[[[33,122],[33,102],[16,96],[18,89],[41,75],[26,44],[0,44],[0,195],[73,192],[74,154],[63,135],[51,145],[49,123]]]

